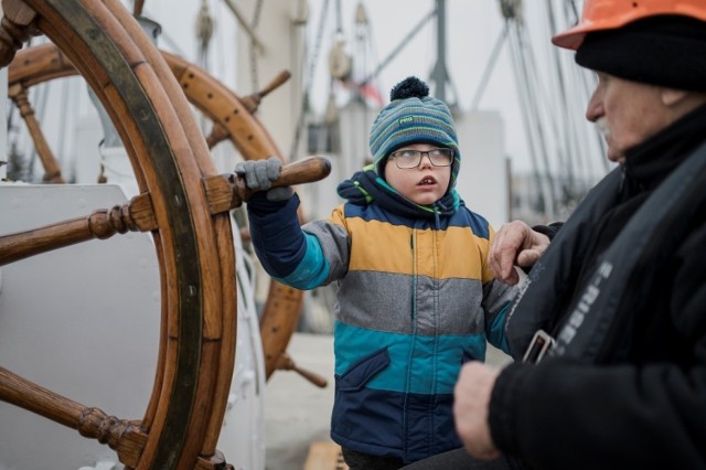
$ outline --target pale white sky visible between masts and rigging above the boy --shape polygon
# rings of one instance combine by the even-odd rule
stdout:
[[[263,14],[267,12],[267,2],[263,0]],[[292,3],[295,0],[289,0]],[[309,0],[310,15],[307,24],[309,47],[313,49],[317,30],[321,19],[321,6],[327,0]],[[359,3],[364,4],[371,22],[371,58],[364,64],[366,73],[371,73],[382,61],[389,57],[393,50],[398,47],[405,36],[435,8],[434,0],[328,0],[327,25],[323,29],[317,65],[317,75],[313,77],[311,103],[314,110],[323,113],[328,99],[329,78],[327,71],[327,55],[334,40],[336,29],[336,4],[341,6],[341,25],[346,46],[355,51],[355,23],[354,12]],[[565,0],[553,0],[564,2]],[[132,2],[126,0],[131,8]],[[178,50],[192,62],[199,64],[197,46],[195,42],[195,19],[202,1],[179,2],[175,8],[173,0],[147,0],[145,14],[158,19],[162,24],[163,33],[160,39],[160,47]],[[224,0],[208,0],[210,11],[215,19],[214,39],[211,44],[208,68],[214,76],[224,83],[235,83],[232,62],[221,57],[228,57],[228,52],[236,41],[236,22]],[[238,3],[237,1],[235,2]],[[542,4],[541,4],[542,3]],[[578,2],[580,3],[580,1]],[[545,24],[541,14],[544,2],[538,0],[524,1],[525,24],[532,40],[532,47],[537,57],[539,71],[546,68],[543,61],[548,61],[549,52],[554,47],[550,44],[552,32]],[[531,7],[532,6],[532,7]],[[542,8],[539,8],[542,7]],[[457,103],[461,110],[469,110],[486,72],[493,46],[503,29],[504,20],[501,15],[500,0],[447,0],[447,68],[452,86],[458,92]],[[359,42],[360,44],[360,42]],[[571,60],[571,53],[561,51],[567,60]],[[429,79],[431,68],[436,63],[436,24],[427,22],[413,39],[404,45],[404,49],[378,75],[377,84],[384,98],[387,100],[391,87],[409,75],[417,75],[422,79]],[[360,61],[357,63],[361,66]],[[265,81],[266,77],[260,77]],[[537,90],[543,99],[550,100],[550,86]],[[237,92],[237,90],[236,90]],[[248,90],[249,93],[249,90]],[[432,88],[434,94],[434,88]],[[447,88],[447,100],[453,99],[453,92]],[[577,104],[576,110],[582,116],[585,100]],[[516,92],[514,68],[511,63],[509,43],[505,42],[502,53],[493,67],[490,81],[482,94],[479,109],[496,110],[501,114],[505,126],[505,150],[512,159],[515,171],[530,171],[532,169],[527,150],[526,132],[522,120],[522,113]],[[587,126],[587,129],[589,127]],[[602,163],[603,157],[596,156],[596,160]],[[599,170],[600,171],[600,165]]]

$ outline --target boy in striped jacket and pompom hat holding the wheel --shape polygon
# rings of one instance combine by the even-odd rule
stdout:
[[[352,470],[397,469],[460,447],[453,384],[485,344],[506,351],[514,288],[485,264],[493,229],[453,190],[461,156],[447,105],[416,77],[397,84],[371,130],[374,162],[339,185],[346,203],[299,226],[291,189],[255,194],[264,268],[298,289],[339,282],[331,437]],[[268,190],[277,159],[238,163]]]

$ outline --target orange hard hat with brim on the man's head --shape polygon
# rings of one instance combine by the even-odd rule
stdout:
[[[576,51],[587,33],[613,30],[659,14],[677,14],[706,21],[706,0],[586,0],[578,24],[555,35],[552,42]]]

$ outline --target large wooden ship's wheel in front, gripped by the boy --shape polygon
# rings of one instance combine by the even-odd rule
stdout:
[[[216,442],[236,339],[229,211],[249,192],[234,175],[215,172],[174,67],[117,0],[3,0],[3,11],[1,65],[31,35],[46,34],[110,116],[140,194],[124,206],[0,237],[0,266],[88,239],[150,233],[162,321],[154,384],[141,419],[108,416],[3,367],[0,399],[107,444],[127,468],[225,468]],[[193,70],[185,73],[189,78]],[[257,148],[244,154],[277,154],[266,132],[257,136],[261,126],[245,105],[213,119],[224,129],[237,122],[232,138]],[[304,160],[287,165],[278,184],[315,181],[328,171],[323,160]]]

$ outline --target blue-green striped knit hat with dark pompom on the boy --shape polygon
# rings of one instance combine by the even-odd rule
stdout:
[[[395,85],[389,105],[377,115],[371,128],[371,153],[375,172],[384,177],[387,157],[413,143],[431,143],[453,150],[451,181],[456,184],[461,163],[453,117],[446,103],[429,96],[429,87],[410,76]]]

